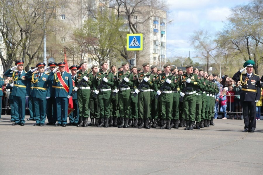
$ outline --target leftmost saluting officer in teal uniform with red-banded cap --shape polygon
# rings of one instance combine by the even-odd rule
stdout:
[[[15,108],[15,123],[12,125],[25,125],[25,96],[29,95],[29,92],[26,90],[27,80],[25,78],[26,71],[24,68],[24,60],[18,60],[15,62],[15,67],[8,69],[5,72],[5,76],[12,77],[14,81],[12,95],[14,100]],[[14,71],[15,68],[18,71]],[[13,72],[12,72],[13,71]]]

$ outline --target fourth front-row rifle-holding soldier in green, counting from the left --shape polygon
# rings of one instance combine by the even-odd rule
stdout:
[[[143,63],[143,72],[137,75],[134,83],[134,92],[138,95],[138,105],[139,105],[139,118],[141,120],[141,125],[138,128],[143,128],[145,123],[145,128],[149,127],[150,118],[150,101],[151,101],[151,89],[153,89],[153,75],[149,73],[150,65],[149,63]],[[149,76],[149,78],[147,78]],[[144,86],[138,90],[140,83]]]

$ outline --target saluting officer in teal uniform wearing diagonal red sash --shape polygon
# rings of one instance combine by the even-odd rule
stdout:
[[[67,126],[68,101],[72,95],[73,83],[71,74],[65,71],[65,62],[60,62],[49,76],[50,81],[54,81],[57,120],[55,126]],[[56,70],[59,69],[58,72]]]

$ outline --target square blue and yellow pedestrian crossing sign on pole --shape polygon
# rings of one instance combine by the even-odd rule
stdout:
[[[127,50],[143,50],[143,34],[127,34]]]

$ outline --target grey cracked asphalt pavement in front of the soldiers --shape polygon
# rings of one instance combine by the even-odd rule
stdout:
[[[26,119],[29,116],[26,116]],[[200,130],[12,126],[0,120],[0,174],[262,174],[263,121]],[[47,120],[46,120],[47,122]]]

